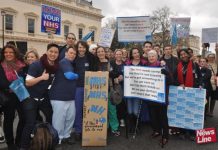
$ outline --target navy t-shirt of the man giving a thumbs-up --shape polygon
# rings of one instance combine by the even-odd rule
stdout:
[[[33,62],[28,69],[28,75],[37,78],[42,75],[45,68],[43,67],[40,60]],[[54,78],[54,74],[49,74],[48,80],[42,80],[33,86],[27,87],[30,97],[33,98],[44,98],[45,94],[48,92],[48,87]]]

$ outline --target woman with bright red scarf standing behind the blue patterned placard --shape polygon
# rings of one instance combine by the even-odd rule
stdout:
[[[202,88],[202,77],[198,64],[191,60],[188,49],[181,49],[178,52],[180,62],[177,65],[177,71],[174,74],[177,85],[186,88]],[[193,130],[181,129],[180,138],[188,138],[195,140],[195,132]]]

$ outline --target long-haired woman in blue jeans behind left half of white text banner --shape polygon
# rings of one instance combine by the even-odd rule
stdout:
[[[138,48],[132,48],[130,50],[130,60],[126,62],[126,65],[133,66],[144,66],[147,62],[142,59],[142,54]],[[134,130],[137,129],[136,121],[137,117],[139,117],[139,105],[141,104],[141,100],[138,98],[128,98],[127,99],[127,112],[128,112],[128,126],[129,133],[133,134]]]

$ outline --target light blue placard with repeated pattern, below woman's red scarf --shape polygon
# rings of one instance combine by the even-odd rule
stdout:
[[[169,126],[203,129],[206,90],[170,86],[167,111]]]

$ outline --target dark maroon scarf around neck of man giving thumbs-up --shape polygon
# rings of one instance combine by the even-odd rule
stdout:
[[[49,64],[47,55],[44,54],[40,58],[42,66],[45,68],[46,73],[54,74],[58,70],[58,59],[55,60],[54,65]]]

